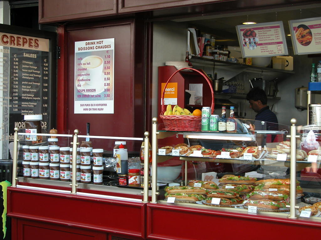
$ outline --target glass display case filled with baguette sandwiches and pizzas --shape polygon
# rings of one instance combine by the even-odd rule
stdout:
[[[295,119],[291,126],[235,121],[236,132],[186,132],[154,118],[152,165],[166,188],[153,191],[152,203],[321,220],[318,131]]]

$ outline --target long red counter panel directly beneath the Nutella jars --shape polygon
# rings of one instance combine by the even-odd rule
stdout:
[[[145,204],[130,201],[8,188],[8,216],[101,232],[126,233],[138,238],[145,236]]]

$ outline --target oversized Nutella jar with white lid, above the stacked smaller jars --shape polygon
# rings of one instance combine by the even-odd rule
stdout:
[[[26,133],[26,144],[32,145],[42,142],[42,136],[32,135],[32,133],[41,133],[42,115],[24,115]]]

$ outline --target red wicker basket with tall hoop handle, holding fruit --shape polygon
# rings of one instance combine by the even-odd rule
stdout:
[[[165,105],[164,105],[164,95],[165,95],[165,89],[167,84],[169,83],[170,79],[179,71],[184,70],[184,69],[189,69],[189,70],[193,70],[197,73],[199,73],[201,76],[203,76],[207,83],[210,85],[210,89],[212,92],[212,105],[211,105],[211,114],[214,111],[214,92],[213,92],[213,88],[212,88],[212,84],[210,82],[210,80],[207,78],[207,76],[196,70],[193,68],[181,68],[179,70],[177,70],[176,72],[174,72],[172,74],[172,76],[169,77],[169,79],[166,82],[166,85],[164,87],[164,91],[162,93],[162,111],[160,114],[160,119],[163,121],[164,123],[164,130],[166,131],[184,131],[184,132],[195,132],[195,131],[201,131],[201,116],[193,116],[193,115],[163,115],[165,112]]]

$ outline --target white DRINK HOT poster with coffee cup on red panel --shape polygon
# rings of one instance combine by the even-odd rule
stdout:
[[[115,38],[75,42],[74,113],[114,113]]]

